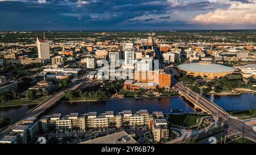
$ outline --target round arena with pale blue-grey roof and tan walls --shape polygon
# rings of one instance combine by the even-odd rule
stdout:
[[[224,77],[234,72],[234,68],[221,64],[213,64],[208,61],[200,61],[190,64],[182,64],[177,66],[179,70],[185,72],[188,76],[201,76],[208,79]]]

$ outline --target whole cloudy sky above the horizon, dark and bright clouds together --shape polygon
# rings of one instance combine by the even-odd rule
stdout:
[[[0,31],[256,29],[256,0],[0,0]]]

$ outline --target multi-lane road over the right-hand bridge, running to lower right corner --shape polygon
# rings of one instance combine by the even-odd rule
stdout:
[[[241,120],[234,119],[225,110],[217,106],[217,104],[211,102],[209,99],[203,97],[195,91],[188,89],[188,87],[185,87],[182,83],[178,82],[176,86],[178,90],[182,90],[185,93],[189,94],[190,97],[196,99],[197,102],[201,103],[204,107],[206,107],[212,113],[213,117],[221,119],[223,122],[228,124],[229,132],[238,132],[240,133],[240,136],[242,136],[244,133],[245,137],[248,137],[249,139],[254,141],[256,140],[256,132],[253,130],[252,126],[245,124]]]

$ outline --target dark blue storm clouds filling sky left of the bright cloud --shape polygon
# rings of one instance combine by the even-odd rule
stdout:
[[[143,30],[148,27],[160,28],[170,25],[189,28],[191,24],[187,22],[171,22],[170,14],[174,11],[214,9],[207,0],[177,2],[176,4],[170,0],[1,0],[0,19],[3,22],[0,24],[0,30]],[[139,19],[145,15],[152,16]]]

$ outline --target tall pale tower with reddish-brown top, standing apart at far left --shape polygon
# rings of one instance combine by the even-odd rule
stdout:
[[[45,39],[37,39],[38,43],[38,58],[43,60],[50,60],[49,42]]]

